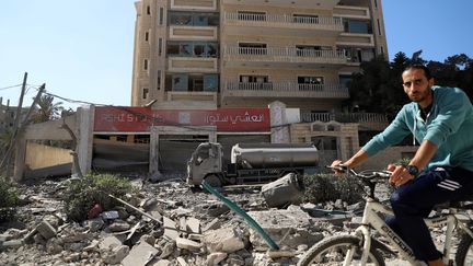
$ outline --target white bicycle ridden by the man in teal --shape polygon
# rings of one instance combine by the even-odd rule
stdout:
[[[393,215],[392,209],[374,197],[378,183],[385,182],[390,176],[389,171],[362,171],[339,166],[327,166],[332,170],[345,172],[358,177],[364,185],[369,187],[369,193],[364,197],[366,206],[359,225],[353,234],[342,234],[326,238],[314,244],[300,258],[298,266],[307,265],[378,265],[384,266],[383,254],[396,255],[401,259],[409,262],[412,265],[427,265],[417,261],[412,248],[384,222],[382,215]],[[438,206],[443,210],[440,215],[424,219],[429,228],[445,227],[446,240],[443,245],[443,263],[446,265],[466,266],[473,265],[473,232],[470,227],[460,219],[460,210],[473,209],[473,204],[466,201],[451,201],[447,207]],[[448,210],[445,212],[445,210]],[[468,216],[466,216],[468,217]],[[468,217],[470,222],[471,218]],[[457,248],[455,263],[451,256],[453,230],[458,227],[464,233]],[[390,246],[373,238],[373,232],[387,239]],[[368,251],[368,252],[367,252]]]

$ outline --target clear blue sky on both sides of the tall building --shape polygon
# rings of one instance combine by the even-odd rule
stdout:
[[[380,0],[378,0],[380,1]],[[0,5],[0,96],[18,104],[28,72],[35,88],[97,104],[129,105],[135,0],[7,0]],[[423,50],[426,60],[473,58],[471,0],[383,0],[390,59]],[[62,100],[65,106],[77,107]]]

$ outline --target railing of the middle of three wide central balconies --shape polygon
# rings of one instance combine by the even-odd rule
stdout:
[[[298,49],[296,47],[223,47],[223,57],[228,60],[284,61],[345,63],[347,57],[343,50]]]

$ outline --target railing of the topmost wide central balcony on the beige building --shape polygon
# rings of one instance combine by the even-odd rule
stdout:
[[[324,28],[333,31],[343,31],[341,18],[331,16],[293,16],[290,14],[252,14],[252,13],[224,13],[227,21],[239,21],[244,24],[252,25],[276,25],[276,24],[292,24],[299,26],[311,26],[314,28]]]

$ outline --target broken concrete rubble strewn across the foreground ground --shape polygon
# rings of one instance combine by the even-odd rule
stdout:
[[[0,228],[0,265],[296,265],[312,244],[358,224],[359,217],[319,208],[359,213],[364,207],[336,200],[269,208],[259,188],[224,189],[280,247],[270,251],[209,193],[181,181],[132,184],[139,194],[123,199],[129,206],[95,211],[81,223],[66,219],[65,181],[21,185],[19,219]]]

